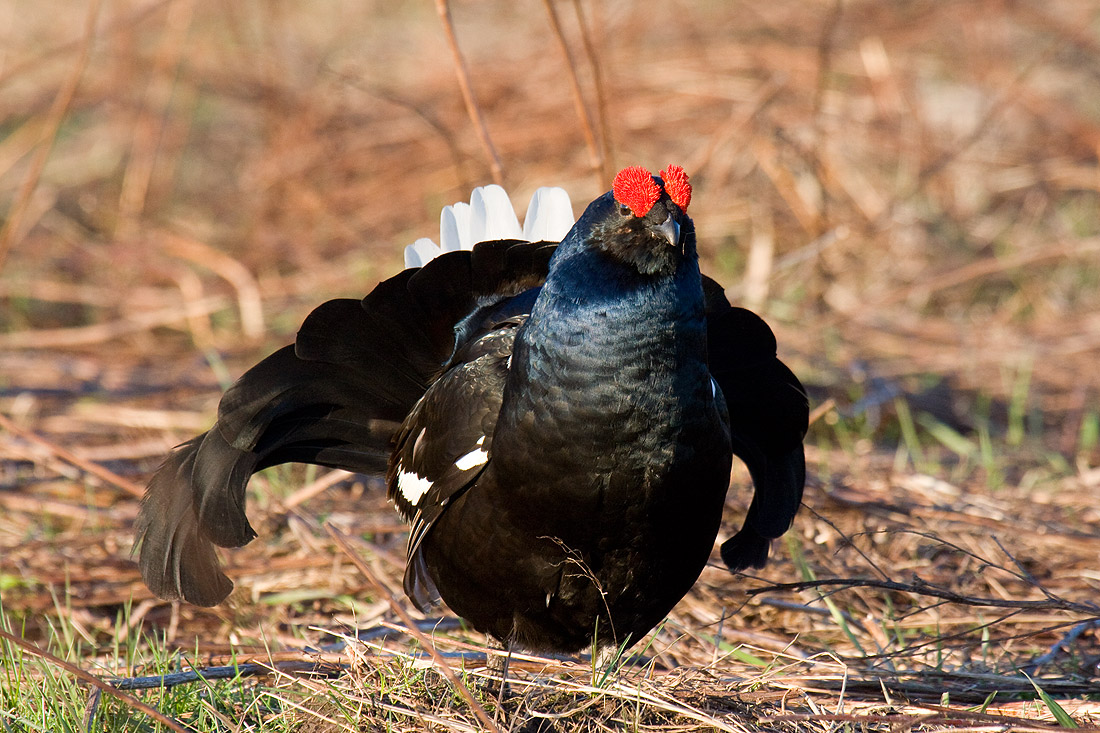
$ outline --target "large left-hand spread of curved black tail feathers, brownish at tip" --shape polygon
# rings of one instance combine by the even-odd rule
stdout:
[[[161,598],[219,603],[232,589],[213,545],[255,533],[245,485],[299,461],[381,474],[389,440],[461,347],[529,309],[553,247],[493,241],[406,270],[362,300],[314,310],[293,346],[245,372],[218,423],[177,447],[150,482],[136,523],[142,577]]]

